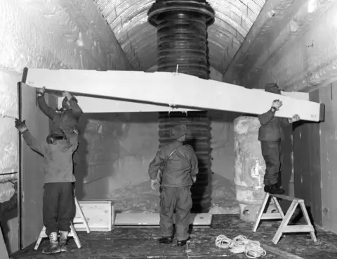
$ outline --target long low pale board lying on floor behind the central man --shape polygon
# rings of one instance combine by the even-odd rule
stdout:
[[[173,215],[173,221],[175,219]],[[209,213],[191,213],[190,224],[194,226],[209,226],[213,215]],[[117,213],[114,225],[116,226],[159,226],[159,213]]]

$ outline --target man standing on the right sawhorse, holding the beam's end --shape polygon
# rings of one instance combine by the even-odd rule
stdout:
[[[275,83],[267,84],[265,91],[272,94],[281,94],[279,87]],[[284,189],[278,185],[279,171],[281,169],[282,127],[300,120],[300,116],[297,114],[290,119],[275,117],[276,111],[281,106],[282,101],[274,100],[270,110],[258,115],[258,120],[261,124],[258,130],[258,140],[261,142],[262,156],[265,160],[264,191],[270,194],[285,193]]]

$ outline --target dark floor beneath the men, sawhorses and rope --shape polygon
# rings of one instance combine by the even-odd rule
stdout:
[[[77,249],[70,239],[68,251],[55,255],[43,255],[42,241],[38,251],[34,244],[11,255],[13,259],[38,258],[247,258],[244,254],[232,254],[227,249],[217,248],[216,236],[229,238],[244,235],[260,241],[267,255],[260,258],[337,258],[337,235],[317,229],[318,241],[314,243],[309,234],[283,236],[277,245],[272,244],[279,222],[262,222],[258,231],[251,231],[253,224],[239,220],[239,215],[214,215],[211,228],[192,229],[187,247],[157,244],[159,228],[116,228],[112,232],[78,232],[82,248]],[[296,256],[297,255],[297,256]]]

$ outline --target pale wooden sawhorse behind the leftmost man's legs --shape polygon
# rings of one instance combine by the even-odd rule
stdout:
[[[77,201],[77,198],[74,197],[75,199],[75,205],[76,205],[76,210],[78,210],[79,212],[79,217],[75,217],[74,218],[74,224],[84,224],[86,226],[86,232],[90,233],[90,228],[88,225],[88,222],[86,221],[86,217],[84,217],[83,211],[81,209],[81,206],[79,206],[79,201]],[[76,222],[75,222],[76,220]],[[77,236],[76,230],[74,228],[74,225],[72,224],[72,222],[70,222],[70,233],[68,234],[68,236],[72,236],[74,238],[74,241],[77,245],[77,248],[81,248],[81,241],[79,241],[79,236]],[[34,250],[37,250],[40,246],[41,240],[43,238],[48,237],[46,235],[46,227],[42,227],[42,230],[39,234],[39,238],[37,239],[37,244],[35,244]]]

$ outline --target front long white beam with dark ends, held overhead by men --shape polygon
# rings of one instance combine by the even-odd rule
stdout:
[[[103,103],[109,106],[109,103],[101,101],[100,98],[110,98],[156,106],[227,110],[257,115],[265,113],[272,101],[279,99],[283,106],[276,113],[277,117],[291,118],[297,113],[302,120],[317,122],[322,119],[324,111],[320,103],[172,72],[31,68],[27,72],[26,83],[32,87],[46,86],[55,91],[67,90],[77,95],[99,98],[91,107],[103,106]],[[107,110],[107,107],[104,110]],[[111,112],[113,111],[112,107]],[[95,112],[99,112],[99,109]]]

